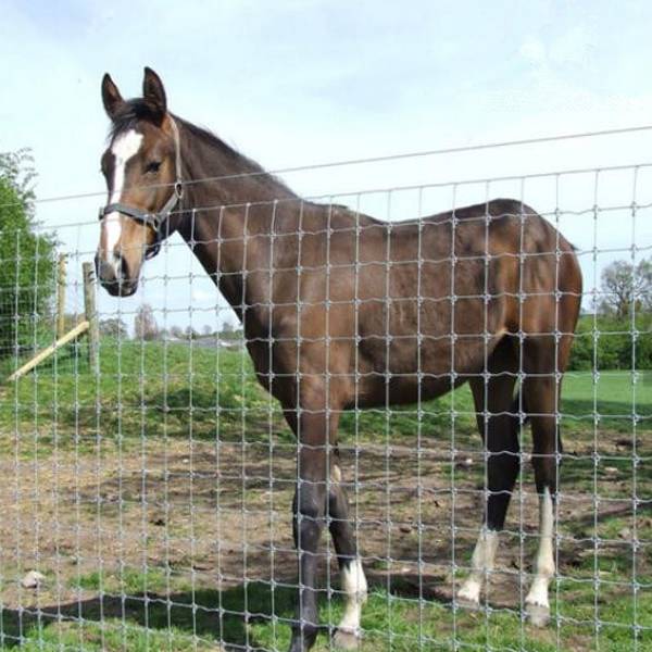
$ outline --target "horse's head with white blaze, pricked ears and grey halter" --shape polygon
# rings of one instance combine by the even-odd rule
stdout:
[[[183,193],[179,135],[163,84],[150,68],[145,68],[142,98],[134,100],[123,100],[104,75],[102,101],[112,128],[102,154],[109,201],[100,211],[96,268],[111,294],[129,297],[145,259],[174,230],[171,213]]]

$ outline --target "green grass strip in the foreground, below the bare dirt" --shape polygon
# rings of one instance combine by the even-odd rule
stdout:
[[[593,601],[587,588],[553,589],[553,622],[534,629],[513,609],[454,610],[451,604],[418,601],[400,590],[374,590],[363,610],[363,652],[392,650],[614,650],[652,649],[652,595],[636,604],[631,594],[618,600]],[[284,651],[289,644],[293,592],[266,582],[249,582],[225,591],[199,589],[129,593],[122,600],[103,593],[70,605],[77,622],[55,622],[55,614],[35,616],[5,611],[2,635],[5,647],[24,650],[229,650]],[[196,609],[193,609],[193,606]],[[330,650],[328,632],[342,614],[342,601],[322,600],[323,631],[315,652]],[[73,615],[72,613],[64,615]],[[21,622],[22,620],[22,622]],[[600,623],[597,627],[595,623]]]

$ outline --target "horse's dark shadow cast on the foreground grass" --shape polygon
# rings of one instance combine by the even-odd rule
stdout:
[[[368,579],[372,592],[388,588],[386,575],[371,572]],[[450,593],[442,586],[428,588],[435,582],[436,579],[429,576],[422,578],[421,598],[450,605]],[[390,581],[390,587],[393,597],[419,598],[417,575],[397,577]],[[163,645],[167,637],[172,641],[171,650],[190,649],[197,639],[208,649],[225,652],[268,649],[271,637],[275,640],[275,647],[285,649],[294,617],[296,594],[296,589],[289,584],[277,584],[273,588],[266,581],[251,581],[222,591],[198,589],[170,594],[155,591],[125,595],[105,593],[78,602],[41,606],[38,611],[29,607],[4,609],[0,612],[2,649],[54,642],[59,623],[68,624],[72,630],[70,635],[73,638],[82,636],[88,645],[85,649],[89,650],[95,650],[96,645],[97,649],[122,649],[124,645],[128,650],[158,649],[156,644]],[[330,605],[335,625],[341,616],[341,597],[334,595]],[[326,622],[328,607],[324,589],[321,591],[319,606],[321,637],[328,637],[334,628]],[[77,631],[80,626],[85,629],[84,634]],[[143,645],[142,640],[148,636],[154,640]],[[102,644],[104,638],[108,639],[105,645]],[[222,643],[221,648],[215,647],[218,643]],[[46,649],[50,648],[46,645]],[[199,649],[203,648],[200,645]]]

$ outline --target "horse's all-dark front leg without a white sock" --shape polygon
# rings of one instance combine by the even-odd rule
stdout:
[[[323,408],[316,411],[303,408],[296,422],[299,455],[292,511],[299,599],[290,652],[306,652],[317,637],[317,548],[325,524],[328,416]]]

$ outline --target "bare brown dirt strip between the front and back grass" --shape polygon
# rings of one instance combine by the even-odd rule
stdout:
[[[635,548],[637,573],[650,572],[645,450],[637,449],[643,462],[635,469],[631,447],[622,440],[622,434],[603,432],[598,462],[592,440],[573,441],[559,501],[560,576],[587,576],[585,561],[595,551],[631,560]],[[122,452],[4,456],[3,604],[61,611],[98,592],[170,594],[254,580],[296,584],[294,454],[294,447],[283,442],[216,446],[152,438]],[[602,473],[607,466],[616,471]],[[342,450],[342,473],[372,584],[426,600],[452,600],[481,521],[479,446],[453,453],[436,440],[421,448],[416,441],[363,444]],[[488,590],[497,609],[515,609],[529,579],[538,523],[531,479],[526,468],[499,548]],[[632,497],[639,500],[636,518]],[[620,519],[616,526],[614,518]],[[335,572],[328,540],[323,557],[323,567]],[[33,569],[47,578],[36,591],[20,581]],[[136,573],[135,579],[127,570]]]

